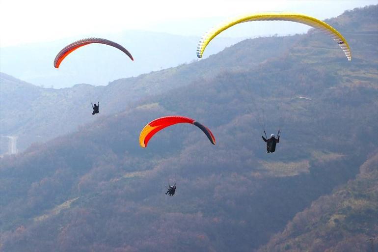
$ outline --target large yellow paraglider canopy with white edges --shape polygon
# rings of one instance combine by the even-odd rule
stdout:
[[[296,13],[259,13],[253,15],[243,15],[228,22],[222,23],[221,25],[217,26],[216,28],[212,28],[210,31],[206,32],[203,35],[197,46],[197,57],[202,57],[207,45],[220,32],[234,25],[251,21],[292,21],[305,24],[313,28],[318,28],[329,34],[333,38],[333,40],[335,40],[336,43],[341,47],[348,60],[351,61],[351,49],[348,45],[347,40],[343,37],[343,35],[341,35],[339,31],[319,19]]]

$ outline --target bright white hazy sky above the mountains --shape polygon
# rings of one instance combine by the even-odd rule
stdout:
[[[378,0],[0,0],[0,47],[129,29],[200,36],[217,22],[243,13],[291,11],[325,19],[377,3]],[[307,28],[302,25],[294,31],[304,32]],[[243,32],[223,35],[243,36]]]

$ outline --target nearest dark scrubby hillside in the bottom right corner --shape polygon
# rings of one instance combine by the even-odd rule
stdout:
[[[370,251],[378,233],[378,154],[360,167],[356,179],[296,214],[282,233],[260,251]]]

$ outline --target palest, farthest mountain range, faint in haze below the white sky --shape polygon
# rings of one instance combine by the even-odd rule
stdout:
[[[199,37],[138,30],[109,34],[106,38],[123,45],[135,61],[112,47],[97,44],[76,51],[55,69],[53,63],[57,53],[82,38],[1,48],[1,72],[45,87],[63,88],[81,83],[106,85],[109,81],[194,61],[199,40]],[[212,43],[207,55],[218,53],[240,40],[219,38]]]

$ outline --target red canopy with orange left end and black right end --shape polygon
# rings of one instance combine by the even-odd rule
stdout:
[[[148,141],[159,131],[162,129],[169,127],[171,125],[177,124],[177,123],[190,123],[194,124],[198,128],[200,128],[205,135],[208,137],[208,139],[211,141],[211,143],[215,144],[216,140],[213,135],[213,133],[204,125],[201,123],[189,118],[189,117],[184,117],[184,116],[165,116],[161,117],[158,119],[155,119],[148,123],[143,130],[140,132],[139,136],[139,144],[141,147],[145,148],[147,147]]]

